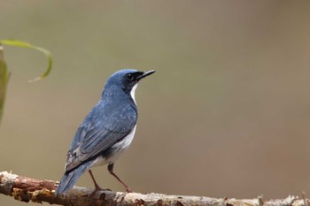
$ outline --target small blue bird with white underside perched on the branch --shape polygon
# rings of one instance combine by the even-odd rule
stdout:
[[[74,134],[67,152],[65,173],[55,194],[66,194],[84,172],[89,172],[95,190],[101,190],[90,168],[107,164],[108,171],[132,192],[114,172],[114,162],[134,139],[138,117],[135,92],[140,80],[154,73],[124,69],[106,81],[101,98]]]

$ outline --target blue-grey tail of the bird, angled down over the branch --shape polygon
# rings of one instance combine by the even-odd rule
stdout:
[[[55,195],[64,194],[66,191],[74,187],[75,182],[81,177],[81,174],[89,169],[91,162],[80,164],[78,167],[72,169],[71,171],[65,172],[64,176],[60,180],[58,187],[56,189]]]

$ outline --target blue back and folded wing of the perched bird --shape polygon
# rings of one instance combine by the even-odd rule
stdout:
[[[126,137],[136,126],[136,107],[128,104],[123,108],[113,105],[94,107],[77,130],[67,154],[66,171],[74,169],[84,161],[105,153],[112,145]],[[116,112],[118,111],[118,112]]]

